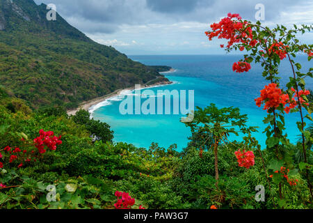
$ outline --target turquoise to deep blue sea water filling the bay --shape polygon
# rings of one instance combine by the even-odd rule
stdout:
[[[194,90],[195,106],[206,107],[215,103],[218,107],[239,107],[241,114],[248,114],[251,126],[259,126],[259,132],[254,137],[265,147],[266,135],[263,134],[266,125],[262,122],[266,111],[255,105],[255,98],[259,91],[268,84],[262,77],[262,67],[252,63],[252,69],[245,73],[232,72],[232,64],[242,56],[239,55],[198,55],[198,56],[130,56],[135,61],[146,65],[166,65],[175,68],[176,72],[167,73],[166,77],[176,84],[152,88],[157,94],[158,90],[173,89]],[[303,72],[312,68],[312,61],[308,62],[306,56],[299,56],[298,62],[303,66]],[[291,69],[288,61],[282,61],[280,77],[282,84],[287,83]],[[306,79],[307,89],[313,89],[312,79]],[[282,85],[283,86],[283,85]],[[189,128],[179,120],[179,115],[122,115],[119,112],[121,100],[104,102],[103,107],[98,106],[93,117],[111,125],[115,141],[124,141],[135,146],[148,148],[152,142],[168,148],[177,144],[178,151],[186,147],[188,137],[191,135]],[[108,105],[109,104],[109,105]],[[299,115],[288,114],[285,117],[287,134],[291,142],[298,139],[296,121]],[[231,137],[231,139],[239,139]]]

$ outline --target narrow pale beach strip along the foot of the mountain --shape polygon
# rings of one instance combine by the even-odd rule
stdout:
[[[160,74],[162,73],[169,73],[169,72],[175,72],[176,70],[174,69],[170,69],[166,72],[160,72]],[[159,77],[157,78],[159,79]],[[165,81],[161,81],[161,82],[156,82],[154,84],[142,84],[141,87],[142,88],[151,88],[151,87],[156,87],[156,86],[159,86],[159,85],[167,85],[167,84],[173,84],[173,82],[169,81],[169,82],[165,82]],[[91,100],[88,100],[88,101],[85,101],[85,102],[81,102],[81,104],[79,105],[79,107],[77,107],[76,109],[70,109],[70,110],[67,110],[67,114],[70,116],[70,115],[74,115],[76,114],[76,112],[78,112],[80,109],[83,109],[83,110],[86,110],[86,111],[89,111],[90,107],[93,107],[101,102],[104,102],[105,100],[108,100],[109,98],[114,98],[114,97],[117,97],[118,95],[120,95],[120,93],[122,93],[122,91],[133,91],[135,89],[134,86],[132,87],[128,87],[128,88],[125,88],[125,89],[118,89],[116,91],[113,91],[112,93],[109,93],[107,95],[104,95],[102,97],[98,97],[98,98],[94,98],[94,99],[91,99]]]

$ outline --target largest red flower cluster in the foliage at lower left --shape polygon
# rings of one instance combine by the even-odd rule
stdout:
[[[51,151],[56,150],[56,145],[62,144],[61,136],[54,136],[54,132],[44,130],[39,131],[40,137],[33,139],[35,147],[38,148],[39,153],[46,153],[45,146],[51,149]]]

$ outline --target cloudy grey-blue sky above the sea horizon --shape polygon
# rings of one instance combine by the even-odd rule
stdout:
[[[224,54],[204,35],[209,24],[227,13],[255,20],[265,6],[268,26],[313,24],[313,0],[35,0],[54,3],[72,26],[98,43],[125,54]],[[300,37],[313,43],[313,33]]]

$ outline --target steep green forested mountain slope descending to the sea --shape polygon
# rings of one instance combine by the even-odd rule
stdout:
[[[90,40],[60,15],[48,21],[47,12],[33,0],[0,0],[0,87],[31,107],[77,107],[161,76]]]

